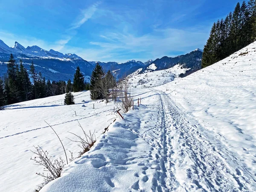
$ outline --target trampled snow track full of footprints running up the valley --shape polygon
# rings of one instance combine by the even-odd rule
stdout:
[[[254,181],[241,175],[242,166],[231,168],[225,161],[227,158],[222,157],[196,125],[186,120],[169,96],[158,94],[160,109],[156,126],[143,133],[144,140],[157,148],[151,161],[159,163],[161,168],[155,191],[252,191],[247,183]],[[155,135],[155,139],[148,135]]]

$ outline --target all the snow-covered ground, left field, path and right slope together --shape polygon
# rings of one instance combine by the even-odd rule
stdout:
[[[96,129],[97,141],[41,192],[255,191],[256,43],[178,78],[183,70],[129,76],[135,106],[123,120],[113,101],[90,101],[89,92],[75,93],[76,105],[63,106],[61,95],[7,106],[0,111],[0,191],[31,191],[42,181],[35,175],[42,168],[29,160],[32,145],[64,157],[44,120],[67,150],[79,151],[66,138],[81,134],[76,119],[85,131]]]

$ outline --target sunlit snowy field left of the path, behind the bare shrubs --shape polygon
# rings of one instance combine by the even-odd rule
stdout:
[[[113,103],[106,106],[105,102],[91,102],[88,91],[74,95],[76,105],[64,106],[64,95],[59,95],[9,105],[6,110],[0,111],[1,192],[14,192],[17,189],[20,192],[32,192],[42,183],[42,178],[35,174],[42,172],[42,167],[33,165],[30,160],[33,145],[40,145],[53,158],[64,158],[58,138],[44,120],[58,133],[70,158],[69,150],[73,152],[74,157],[77,157],[80,151],[77,143],[66,138],[75,139],[68,131],[82,135],[77,120],[87,133],[95,129],[96,137],[99,137],[104,128],[116,118]],[[82,102],[83,100],[85,102]]]

